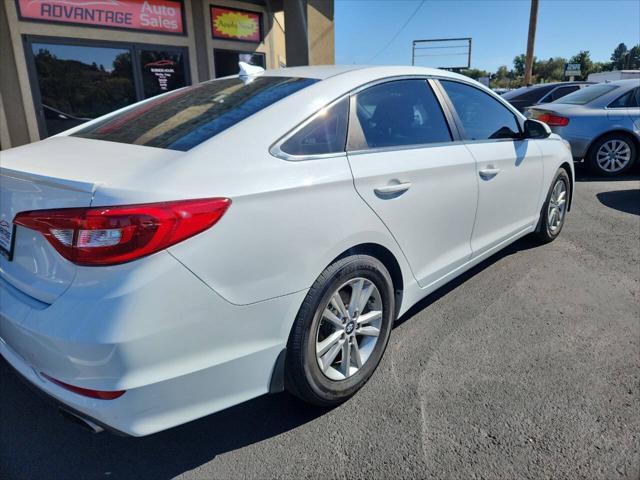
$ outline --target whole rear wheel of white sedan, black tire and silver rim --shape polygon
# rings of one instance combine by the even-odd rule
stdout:
[[[309,289],[296,317],[287,343],[286,389],[322,407],[349,399],[380,363],[394,319],[393,282],[382,262],[368,255],[337,260]]]

